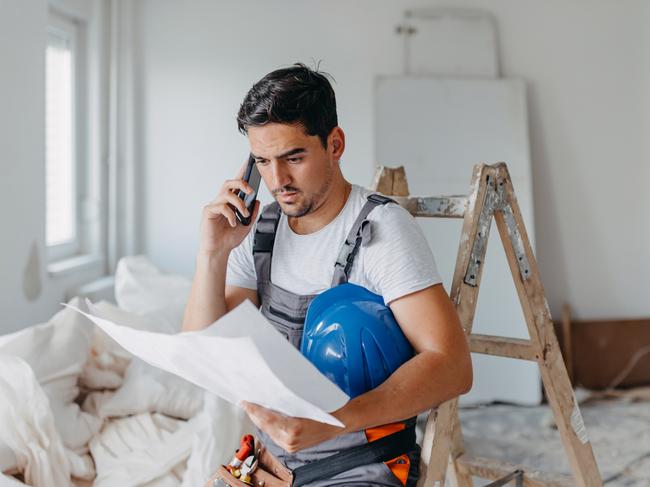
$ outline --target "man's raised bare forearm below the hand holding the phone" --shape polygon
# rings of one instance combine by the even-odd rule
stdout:
[[[201,252],[185,307],[183,331],[201,330],[226,314],[228,252]]]

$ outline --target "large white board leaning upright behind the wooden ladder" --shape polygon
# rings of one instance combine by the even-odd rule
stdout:
[[[467,194],[472,167],[505,161],[534,248],[532,182],[522,81],[382,77],[376,84],[375,160],[403,165],[413,195]],[[445,288],[451,288],[462,220],[420,218]],[[496,225],[492,225],[474,331],[527,338]],[[537,364],[473,354],[463,403],[541,400]]]

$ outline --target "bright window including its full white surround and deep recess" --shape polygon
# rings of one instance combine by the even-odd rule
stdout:
[[[115,76],[108,57],[113,38],[108,6],[113,2],[47,3],[43,45],[47,270],[50,277],[77,274],[68,281],[81,282],[108,272],[112,235],[107,224],[108,163],[116,160],[108,123],[115,118],[109,110]]]

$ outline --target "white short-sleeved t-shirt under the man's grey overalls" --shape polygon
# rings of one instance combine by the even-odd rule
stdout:
[[[291,230],[287,216],[282,214],[273,247],[271,282],[300,295],[329,289],[341,246],[371,193],[352,185],[336,218],[308,235]],[[367,218],[372,222],[372,239],[359,248],[348,282],[383,296],[387,304],[442,282],[422,230],[408,211],[388,203],[374,208]],[[257,289],[254,234],[255,228],[231,252],[228,285]]]

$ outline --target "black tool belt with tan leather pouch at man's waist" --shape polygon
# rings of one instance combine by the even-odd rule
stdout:
[[[291,471],[263,444],[256,441],[254,451],[258,463],[257,468],[251,473],[250,483],[238,479],[225,465],[222,465],[213,478],[213,484],[208,483],[208,486],[300,487],[317,480],[331,478],[360,465],[387,462],[414,448],[415,427],[408,426],[373,442],[348,448]]]

